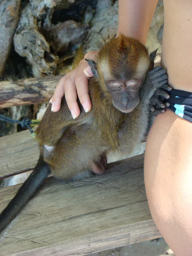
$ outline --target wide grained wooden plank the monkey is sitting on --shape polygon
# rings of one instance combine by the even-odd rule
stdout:
[[[81,181],[48,178],[1,237],[0,255],[85,255],[160,237],[148,209],[143,158],[111,163],[105,174]],[[17,189],[0,189],[0,210]]]

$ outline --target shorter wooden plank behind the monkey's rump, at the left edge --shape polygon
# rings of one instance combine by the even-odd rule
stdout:
[[[38,157],[38,143],[29,130],[0,137],[0,179],[32,170]]]

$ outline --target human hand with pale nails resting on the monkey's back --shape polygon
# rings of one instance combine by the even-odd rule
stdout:
[[[51,111],[56,112],[60,109],[61,99],[64,95],[73,119],[80,114],[77,97],[79,97],[84,111],[90,111],[91,101],[88,90],[88,79],[93,76],[93,73],[87,64],[87,61],[85,61],[85,58],[95,60],[97,54],[98,51],[87,52],[79,65],[60,79],[54,94],[49,101],[52,104]]]

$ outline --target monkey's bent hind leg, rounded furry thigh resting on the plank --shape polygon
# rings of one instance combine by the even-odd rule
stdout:
[[[99,163],[100,156],[107,150],[105,142],[96,132],[83,127],[74,129],[75,132],[72,128],[68,129],[51,151],[47,152],[45,147],[43,149],[44,160],[52,174],[62,179],[73,178],[92,167],[93,171],[97,171],[94,165]],[[103,166],[106,164],[103,163]]]

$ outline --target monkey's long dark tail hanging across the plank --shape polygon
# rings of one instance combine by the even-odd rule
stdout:
[[[0,214],[0,233],[17,216],[29,199],[35,194],[46,177],[51,173],[49,166],[40,156],[35,169],[18,190],[15,197]]]

